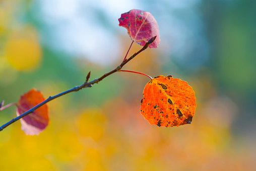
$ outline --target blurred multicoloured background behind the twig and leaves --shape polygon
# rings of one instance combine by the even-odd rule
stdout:
[[[149,11],[160,45],[123,69],[173,75],[196,92],[190,125],[158,127],[140,114],[149,78],[118,72],[48,103],[50,124],[0,132],[0,170],[254,170],[256,1],[0,0],[0,101],[44,97],[115,68],[131,44],[122,13]],[[129,56],[141,48],[133,44]],[[0,112],[0,125],[16,116]]]

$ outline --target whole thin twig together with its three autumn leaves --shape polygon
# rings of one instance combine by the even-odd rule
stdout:
[[[17,117],[0,127],[0,131],[20,119],[22,130],[26,134],[39,134],[47,127],[49,122],[48,107],[46,104],[49,101],[67,93],[77,92],[83,88],[92,87],[94,83],[98,83],[108,75],[117,71],[140,73],[138,71],[122,70],[121,68],[148,47],[158,47],[160,36],[157,22],[149,12],[135,9],[121,14],[118,21],[119,26],[127,29],[127,33],[130,35],[133,42],[135,41],[143,46],[141,50],[136,52],[130,58],[125,58],[119,66],[110,72],[103,74],[100,78],[88,82],[91,73],[89,72],[83,84],[49,97],[48,99],[44,99],[40,91],[31,89],[21,96],[18,103],[15,104],[17,106]],[[10,53],[12,52],[12,50],[9,51]],[[144,73],[140,74],[147,75]],[[159,75],[154,77],[146,84],[143,95],[144,97],[141,101],[141,114],[150,124],[165,127],[190,124],[195,115],[195,92],[186,81],[173,78],[171,75]],[[3,102],[1,103],[1,106],[3,106]],[[4,107],[1,106],[0,110],[3,110],[10,105]]]

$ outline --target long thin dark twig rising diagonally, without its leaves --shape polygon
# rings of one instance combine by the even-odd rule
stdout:
[[[146,44],[143,46],[143,48],[141,50],[139,50],[138,52],[136,52],[134,55],[132,55],[130,58],[128,58],[127,60],[123,61],[119,66],[117,66],[115,69],[111,70],[110,72],[108,73],[105,73],[104,75],[102,75],[100,78],[96,78],[90,82],[84,82],[83,84],[79,85],[79,86],[76,86],[72,89],[69,89],[65,92],[62,92],[62,93],[59,93],[55,96],[50,96],[48,97],[45,101],[39,103],[38,105],[34,106],[33,108],[29,109],[28,111],[24,112],[23,114],[17,116],[16,118],[13,118],[11,121],[7,122],[6,124],[2,125],[0,127],[0,131],[3,131],[3,129],[5,129],[6,127],[8,127],[9,125],[11,125],[12,123],[18,121],[19,119],[23,118],[24,116],[27,116],[28,114],[30,113],[33,113],[36,109],[38,109],[39,107],[43,106],[44,104],[50,102],[51,100],[53,99],[56,99],[60,96],[63,96],[63,95],[66,95],[68,93],[71,93],[71,92],[77,92],[83,88],[88,88],[88,87],[92,87],[92,85],[94,83],[98,83],[99,81],[101,81],[102,79],[104,79],[105,77],[111,75],[112,73],[115,73],[117,72],[118,70],[120,70],[123,65],[125,65],[127,62],[129,62],[130,60],[132,60],[136,55],[138,55],[139,53],[141,53],[143,50],[147,49],[149,44],[153,43],[153,41],[156,39],[156,36],[155,37],[152,37],[148,42],[146,42]]]

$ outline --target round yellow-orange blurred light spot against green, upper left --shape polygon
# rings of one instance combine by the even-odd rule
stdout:
[[[5,47],[5,55],[10,64],[18,70],[35,69],[41,61],[39,43],[28,37],[11,38]]]

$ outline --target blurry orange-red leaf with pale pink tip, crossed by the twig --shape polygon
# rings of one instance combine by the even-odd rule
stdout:
[[[45,99],[40,91],[31,89],[28,93],[21,96],[18,107],[16,108],[17,116],[28,111],[39,103],[43,102]],[[20,119],[21,129],[27,135],[38,135],[42,132],[48,125],[48,106],[45,104],[40,108],[36,109],[33,113]]]

